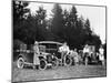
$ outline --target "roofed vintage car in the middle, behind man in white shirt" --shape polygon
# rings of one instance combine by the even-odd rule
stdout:
[[[56,63],[53,62],[54,63],[53,68],[58,65],[67,65],[67,66],[71,65],[72,61],[71,61],[70,55],[68,54],[68,55],[64,55],[64,58],[62,58],[61,55],[62,53],[59,52],[59,48],[62,45],[62,43],[54,42],[54,41],[42,41],[39,44],[46,45],[47,48],[46,52],[51,53],[54,56],[54,59],[57,58],[57,62]]]

